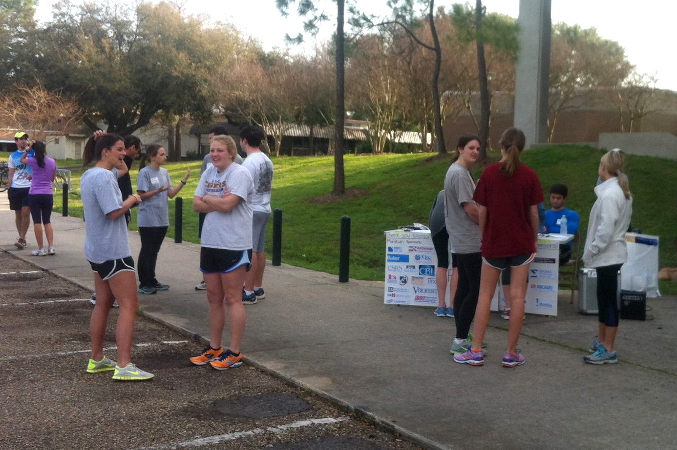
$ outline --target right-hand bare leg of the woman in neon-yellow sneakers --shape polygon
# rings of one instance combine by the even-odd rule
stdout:
[[[136,274],[131,270],[116,273],[108,280],[110,291],[120,305],[118,324],[115,328],[115,340],[118,344],[117,363],[125,367],[131,363],[131,343],[134,339],[134,320],[139,311],[139,299],[136,291]],[[99,297],[96,298],[99,303]]]

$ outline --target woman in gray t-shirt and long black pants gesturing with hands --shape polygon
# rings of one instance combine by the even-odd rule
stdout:
[[[137,222],[141,236],[139,251],[139,294],[154,294],[167,291],[169,284],[162,284],[155,278],[155,266],[160,246],[169,228],[168,199],[173,199],[185,186],[190,176],[190,168],[179,182],[172,187],[167,169],[160,166],[167,162],[167,151],[160,145],[149,145],[146,149],[148,166],[139,170],[136,180],[136,192],[143,203],[139,205]]]

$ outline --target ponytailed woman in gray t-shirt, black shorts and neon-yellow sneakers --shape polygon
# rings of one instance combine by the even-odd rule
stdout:
[[[139,203],[134,194],[123,201],[112,169],[125,166],[125,143],[117,134],[101,136],[95,145],[87,145],[83,163],[96,160],[80,180],[80,195],[85,211],[85,257],[94,272],[96,304],[89,322],[91,358],[87,372],[114,370],[114,380],[150,380],[153,374],[137,368],[131,362],[131,342],[139,302],[136,295],[134,260],[129,249],[125,212]],[[115,339],[118,362],[104,355],[104,336],[108,311],[116,299],[120,316]]]

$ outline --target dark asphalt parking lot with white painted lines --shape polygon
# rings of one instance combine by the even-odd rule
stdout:
[[[200,343],[142,316],[132,357],[156,377],[88,374],[89,291],[4,252],[0,286],[0,449],[421,448],[251,366],[193,366]]]

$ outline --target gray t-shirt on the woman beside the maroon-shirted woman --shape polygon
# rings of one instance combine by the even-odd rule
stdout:
[[[462,206],[462,203],[475,203],[473,193],[475,182],[470,171],[458,163],[452,164],[444,177],[444,203],[445,223],[454,253],[479,253],[479,225]]]

